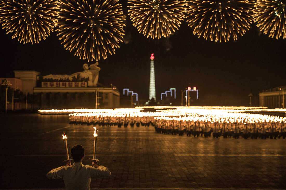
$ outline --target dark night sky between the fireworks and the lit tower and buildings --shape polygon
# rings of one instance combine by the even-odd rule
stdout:
[[[139,99],[148,99],[151,53],[155,56],[157,99],[169,88],[176,88],[180,97],[179,91],[189,84],[202,96],[228,93],[241,97],[286,85],[286,39],[268,38],[255,24],[237,41],[215,43],[193,35],[185,21],[169,41],[146,39],[127,19],[125,31],[131,41],[121,43],[115,55],[99,61],[99,82],[106,86],[112,83],[121,94],[123,88],[129,88],[138,93]],[[0,77],[14,77],[13,70],[72,74],[82,71],[87,63],[66,51],[56,33],[39,44],[24,45],[1,29],[0,40]]]

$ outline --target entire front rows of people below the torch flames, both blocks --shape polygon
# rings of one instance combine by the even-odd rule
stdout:
[[[184,120],[165,120],[157,117],[84,117],[70,116],[70,123],[81,125],[100,125],[102,127],[140,127],[153,126],[157,133],[171,135],[186,135],[188,137],[233,137],[238,139],[277,139],[286,137],[286,125],[284,122],[257,122],[245,123],[241,121],[184,121]]]

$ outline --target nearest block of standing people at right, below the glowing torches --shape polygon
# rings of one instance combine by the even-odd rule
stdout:
[[[203,122],[203,121],[156,121],[155,130],[157,133],[184,135],[194,137],[223,136],[223,138],[240,136],[247,139],[276,139],[286,137],[286,126],[284,123],[240,123],[240,122]]]

